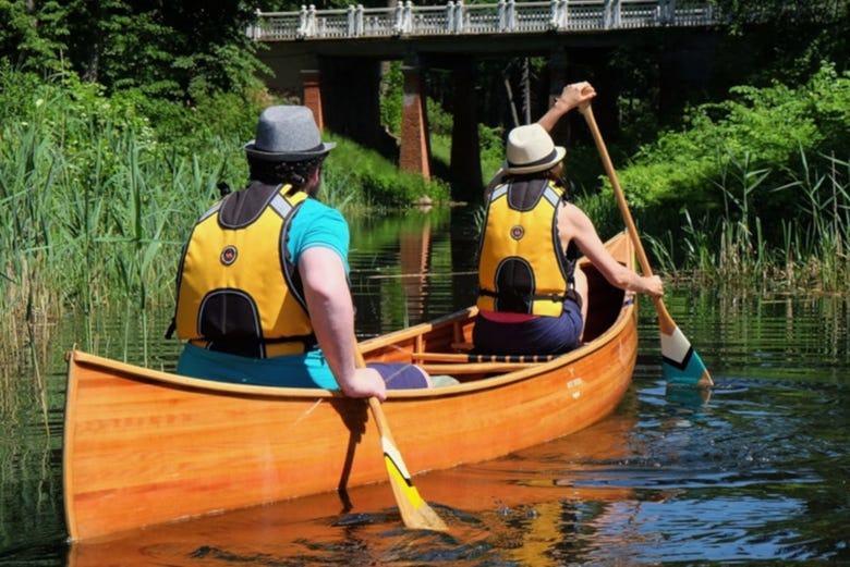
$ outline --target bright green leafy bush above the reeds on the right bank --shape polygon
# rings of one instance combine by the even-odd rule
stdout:
[[[768,169],[764,187],[782,185],[797,159],[806,155],[845,152],[850,143],[850,74],[825,65],[812,79],[791,88],[736,87],[731,98],[693,109],[687,130],[664,133],[642,147],[621,174],[630,200],[638,207],[682,207],[694,214],[724,201],[730,172]],[[792,194],[761,189],[756,215],[787,215],[797,206]]]

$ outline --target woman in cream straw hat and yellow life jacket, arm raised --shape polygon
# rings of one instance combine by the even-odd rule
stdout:
[[[479,244],[478,309],[473,343],[488,354],[558,354],[581,341],[587,282],[570,244],[612,285],[660,297],[661,280],[644,278],[617,262],[593,222],[568,201],[567,150],[549,132],[570,110],[596,96],[588,83],[568,85],[534,124],[508,135],[506,160],[486,196]]]

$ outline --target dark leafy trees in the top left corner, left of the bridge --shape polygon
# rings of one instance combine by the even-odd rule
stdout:
[[[73,70],[109,90],[194,101],[256,88],[247,2],[0,1],[0,56],[39,73]]]

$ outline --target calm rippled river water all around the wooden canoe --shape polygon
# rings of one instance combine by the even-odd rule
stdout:
[[[473,235],[462,211],[354,222],[359,333],[470,304]],[[348,513],[324,495],[74,546],[61,500],[63,350],[78,343],[168,369],[178,345],[159,338],[169,312],[62,321],[47,368],[0,374],[0,564],[850,565],[847,299],[670,289],[666,304],[712,372],[711,397],[665,387],[643,301],[638,369],[612,416],[415,478],[448,533],[402,529],[381,484],[352,490]]]

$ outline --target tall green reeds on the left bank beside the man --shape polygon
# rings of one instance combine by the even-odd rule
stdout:
[[[238,149],[169,155],[133,108],[89,88],[37,85],[0,130],[5,362],[49,344],[64,309],[127,305],[144,317],[170,298],[180,245],[217,196],[221,156]]]

